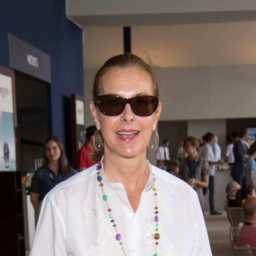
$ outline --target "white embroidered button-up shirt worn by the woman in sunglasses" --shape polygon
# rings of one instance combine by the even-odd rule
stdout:
[[[179,178],[150,164],[149,168],[150,177],[135,213],[123,184],[110,183],[102,168],[103,188],[126,255],[155,253],[154,173],[161,236],[158,255],[211,256],[196,192]],[[61,182],[45,196],[30,256],[124,256],[96,172],[94,165]]]

